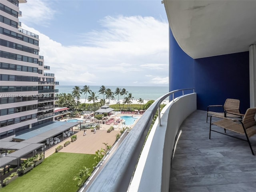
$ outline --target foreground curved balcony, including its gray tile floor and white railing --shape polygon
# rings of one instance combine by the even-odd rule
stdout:
[[[248,144],[218,133],[209,140],[206,112],[196,110],[196,94],[172,96],[161,112],[158,106],[165,96],[148,108],[80,192],[255,190],[256,162]],[[144,145],[157,110],[160,118]],[[255,137],[251,142],[255,150]]]

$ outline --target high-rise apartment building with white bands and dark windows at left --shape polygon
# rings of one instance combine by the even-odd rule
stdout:
[[[54,120],[54,74],[46,73],[38,35],[21,28],[20,3],[1,0],[0,138]]]

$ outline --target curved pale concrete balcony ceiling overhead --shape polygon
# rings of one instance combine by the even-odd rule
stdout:
[[[249,50],[256,44],[256,1],[164,0],[179,46],[192,58]]]

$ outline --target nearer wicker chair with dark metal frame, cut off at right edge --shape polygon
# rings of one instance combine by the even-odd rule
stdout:
[[[234,137],[243,141],[248,142],[250,149],[252,151],[252,154],[254,155],[254,152],[252,150],[252,146],[249,140],[249,137],[253,136],[254,134],[256,134],[256,108],[249,108],[248,110],[246,110],[246,113],[244,115],[244,118],[242,120],[235,120],[235,119],[229,119],[229,118],[225,118],[225,117],[220,117],[220,116],[214,116],[217,118],[221,118],[221,120],[216,121],[216,122],[212,122],[212,117],[214,115],[212,115],[210,117],[210,134],[209,134],[209,139],[211,139],[211,131],[220,133],[220,134],[224,134],[230,137]],[[216,125],[219,127],[224,128],[225,132],[219,132],[216,130],[212,130],[212,125]],[[230,130],[232,132],[236,132],[238,134],[242,134],[246,136],[246,139],[242,139],[233,135],[229,135],[226,133],[226,130]]]

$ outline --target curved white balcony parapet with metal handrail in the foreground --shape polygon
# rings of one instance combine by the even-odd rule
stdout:
[[[160,104],[168,96],[172,96],[172,101],[160,114]],[[196,93],[193,88],[175,90],[158,98],[109,160],[104,162],[104,167],[98,170],[98,174],[94,171],[79,192],[168,191],[171,159],[179,128],[194,110]],[[157,111],[158,120],[145,143]],[[135,179],[132,180],[133,175]]]

